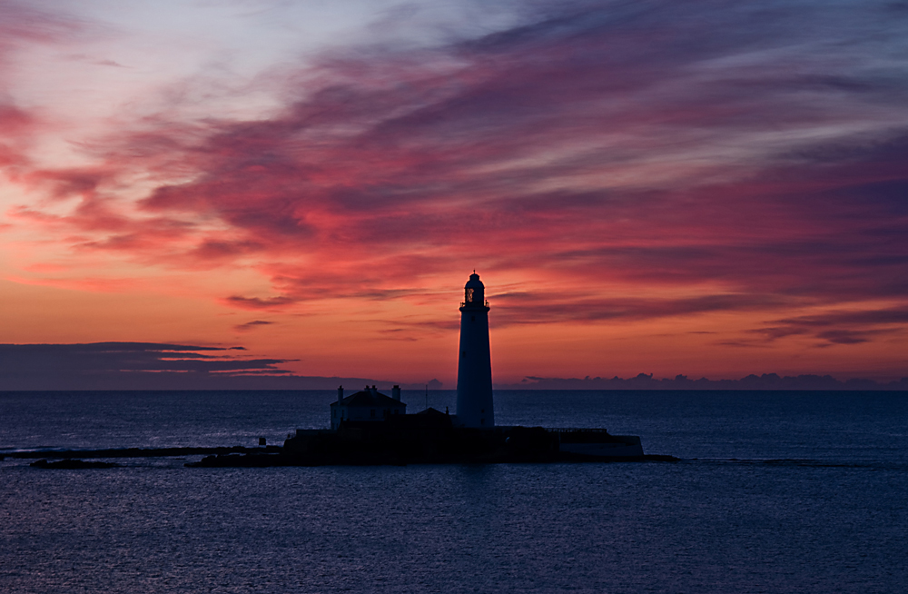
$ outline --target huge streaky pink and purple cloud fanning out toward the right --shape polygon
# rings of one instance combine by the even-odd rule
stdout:
[[[85,144],[91,166],[21,176],[71,210],[13,214],[86,259],[248,266],[271,296],[222,293],[248,311],[420,299],[479,266],[522,279],[493,296],[501,324],[754,312],[770,342],[879,335],[784,320],[908,291],[908,50],[887,5],[519,18],[281,66],[261,117],[175,116],[163,89],[160,113]]]

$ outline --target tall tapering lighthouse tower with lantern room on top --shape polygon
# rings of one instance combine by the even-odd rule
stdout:
[[[492,359],[489,352],[489,303],[486,288],[473,271],[460,303],[460,356],[457,368],[457,423],[491,429]]]

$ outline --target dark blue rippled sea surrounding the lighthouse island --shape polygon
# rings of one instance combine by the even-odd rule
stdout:
[[[0,392],[0,592],[908,591],[908,392],[497,391],[676,462],[48,470],[280,444],[333,391]],[[454,412],[453,391],[404,391]]]

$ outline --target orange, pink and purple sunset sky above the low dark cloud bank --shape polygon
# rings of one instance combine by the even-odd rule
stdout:
[[[906,106],[905,2],[0,0],[0,343],[896,380]]]

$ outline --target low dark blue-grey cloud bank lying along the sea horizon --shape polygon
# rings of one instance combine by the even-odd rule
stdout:
[[[201,347],[153,342],[90,344],[0,344],[0,391],[14,390],[333,390],[392,381],[369,378],[300,376],[281,369],[283,359],[252,359],[242,347]],[[426,384],[400,384],[409,390]],[[442,388],[440,381],[429,389]],[[453,386],[452,386],[453,387]],[[908,377],[888,383],[832,376],[748,375],[741,380],[528,377],[498,390],[904,390]]]

